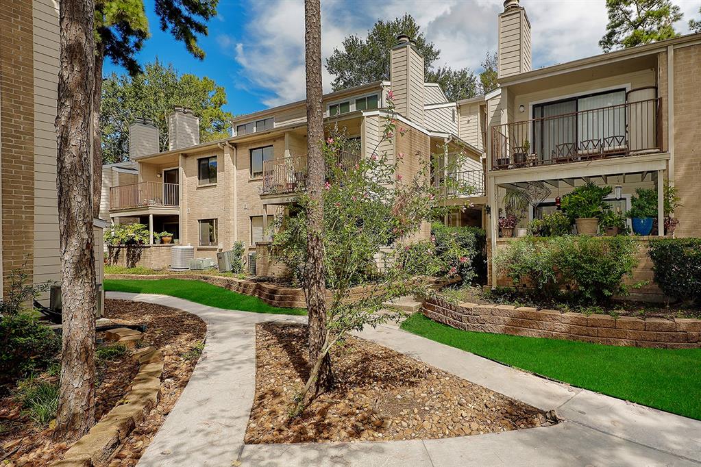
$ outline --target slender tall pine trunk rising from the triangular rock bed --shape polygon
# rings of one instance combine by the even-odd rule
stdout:
[[[324,188],[325,163],[322,155],[324,120],[321,83],[320,0],[304,1],[304,42],[306,61],[307,193],[310,199],[307,225],[306,302],[309,316],[309,362],[318,360],[326,335],[326,285],[324,281]],[[319,368],[313,391],[332,386],[331,357]]]

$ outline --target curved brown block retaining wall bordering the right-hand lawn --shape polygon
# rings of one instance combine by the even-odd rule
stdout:
[[[421,312],[433,321],[481,333],[550,337],[597,344],[657,349],[698,349],[701,320],[690,318],[614,318],[608,314],[561,313],[512,305],[454,304],[429,298]]]

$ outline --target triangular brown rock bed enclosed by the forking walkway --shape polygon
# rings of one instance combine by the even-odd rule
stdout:
[[[334,389],[290,419],[309,371],[306,339],[306,326],[257,326],[245,442],[451,438],[551,424],[535,407],[356,337],[334,353]]]

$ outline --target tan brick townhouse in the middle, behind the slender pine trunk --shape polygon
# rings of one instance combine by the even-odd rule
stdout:
[[[456,214],[449,221],[482,225],[479,203],[486,198],[480,100],[475,100],[476,106],[471,105],[472,101],[448,102],[439,85],[425,82],[423,57],[414,43],[407,36],[397,40],[390,52],[389,81],[323,97],[327,131],[338,127],[347,137],[358,140],[359,150],[343,157],[369,157],[373,152],[386,151],[388,158],[395,160],[402,153],[399,170],[405,177],[416,172],[418,158],[428,158],[431,153],[447,157],[458,151],[467,154],[467,162],[451,176],[475,185],[475,193],[469,199],[452,197],[449,202],[460,207],[472,202],[472,214]],[[390,90],[394,95],[393,113],[388,110]],[[470,111],[476,109],[475,115],[463,118],[463,106]],[[383,141],[383,127],[390,117],[406,132]],[[231,249],[236,241],[243,241],[250,252],[257,244],[265,244],[266,226],[272,216],[294,202],[299,189],[304,188],[305,102],[238,116],[233,120],[232,137],[203,144],[198,141],[198,118],[191,111],[177,108],[168,119],[170,148],[162,153],[156,152],[155,127],[143,121],[130,127],[132,134],[139,134],[130,138],[138,182],[109,188],[112,220],[140,221],[149,225],[151,232],[172,232],[179,244],[194,247],[196,257],[212,258],[217,251]],[[472,139],[465,141],[461,132]],[[459,209],[456,212],[462,213]],[[428,225],[422,235],[428,235]],[[151,267],[167,267],[169,246],[144,248],[139,261]],[[266,270],[259,267],[261,273]]]

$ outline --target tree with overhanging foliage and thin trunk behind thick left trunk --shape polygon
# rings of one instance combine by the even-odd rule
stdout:
[[[177,41],[198,59],[205,56],[197,37],[207,34],[205,22],[217,14],[219,0],[155,0],[154,10],[163,31],[170,31]],[[144,0],[97,0],[95,4],[95,88],[93,89],[93,214],[100,214],[102,193],[102,145],[100,144],[100,100],[102,97],[102,63],[105,57],[137,74],[136,54],[149,37],[149,22]]]

